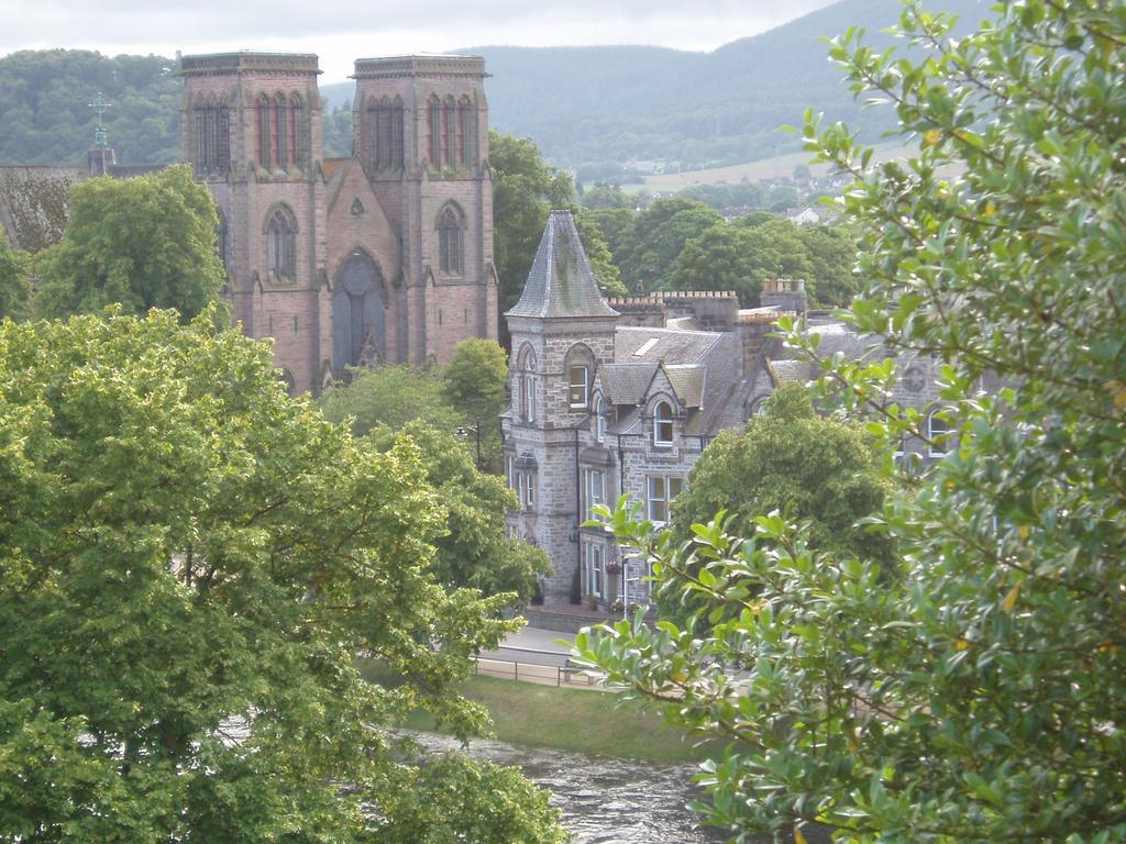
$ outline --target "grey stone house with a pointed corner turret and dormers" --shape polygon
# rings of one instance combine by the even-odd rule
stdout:
[[[734,293],[715,291],[608,300],[571,215],[552,213],[524,295],[506,314],[511,404],[501,415],[506,475],[520,503],[508,528],[551,556],[554,573],[542,583],[549,602],[566,600],[575,578],[604,608],[650,602],[643,563],[583,523],[622,495],[650,521],[668,521],[712,439],[745,424],[780,384],[819,376],[771,336],[781,315],[804,316],[820,353],[882,353],[873,338],[810,312],[801,280],[768,280],[761,303],[741,309]],[[896,360],[887,396],[923,414],[928,440],[902,449],[914,463],[945,449],[938,367],[929,357]]]

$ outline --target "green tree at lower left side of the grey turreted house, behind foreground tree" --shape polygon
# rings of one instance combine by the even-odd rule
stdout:
[[[446,511],[447,532],[435,540],[431,565],[437,581],[486,595],[507,592],[515,594],[516,603],[527,603],[536,576],[547,574],[551,566],[542,549],[504,535],[504,513],[519,506],[504,478],[480,472],[455,433],[420,420],[406,423],[401,432],[376,429],[369,439],[385,451],[396,447],[400,434],[418,446],[426,481]]]

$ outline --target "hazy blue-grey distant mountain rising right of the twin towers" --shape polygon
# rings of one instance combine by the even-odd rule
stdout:
[[[930,0],[975,26],[988,0]],[[887,44],[881,29],[897,20],[899,0],[842,0],[768,33],[711,53],[663,47],[510,47],[457,51],[482,55],[490,122],[528,135],[554,163],[579,167],[665,159],[698,169],[769,158],[799,149],[793,134],[807,106],[846,119],[874,137],[894,119],[890,109],[860,109],[828,60],[824,38],[850,26]],[[327,86],[339,102],[351,84]]]

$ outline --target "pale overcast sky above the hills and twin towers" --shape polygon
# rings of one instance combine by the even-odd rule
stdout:
[[[832,0],[0,0],[0,55],[69,47],[175,55],[316,53],[322,83],[352,60],[467,46],[656,44],[715,47]]]

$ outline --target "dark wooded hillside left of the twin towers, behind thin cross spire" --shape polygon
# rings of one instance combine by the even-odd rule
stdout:
[[[110,59],[84,50],[21,51],[0,57],[0,162],[78,163],[93,143],[98,91],[111,104],[105,124],[123,164],[180,158],[177,62]]]

